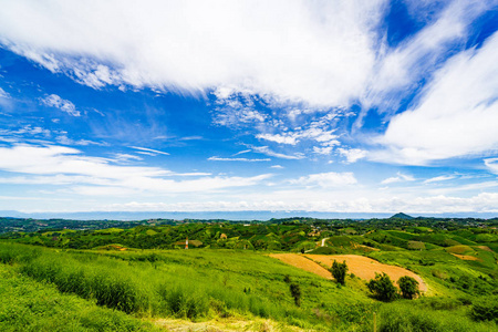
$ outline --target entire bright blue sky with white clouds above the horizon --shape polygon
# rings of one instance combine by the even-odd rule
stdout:
[[[498,1],[0,9],[0,210],[498,216]]]

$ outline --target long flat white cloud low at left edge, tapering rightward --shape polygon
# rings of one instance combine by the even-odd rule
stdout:
[[[71,193],[81,195],[129,193],[198,193],[232,187],[253,186],[271,177],[208,176],[207,173],[176,174],[159,167],[111,165],[110,159],[83,156],[74,148],[63,146],[17,145],[0,147],[0,169],[21,177],[3,178],[2,183],[62,185],[79,184]],[[198,176],[196,179],[175,180],[165,177]],[[100,193],[100,194],[98,194]]]

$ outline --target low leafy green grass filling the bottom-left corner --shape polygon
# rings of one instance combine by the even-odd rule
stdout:
[[[0,264],[0,331],[157,331],[152,324],[93,301],[61,294]]]

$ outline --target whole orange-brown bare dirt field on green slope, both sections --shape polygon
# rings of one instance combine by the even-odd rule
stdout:
[[[394,266],[387,266],[380,263],[376,260],[373,260],[371,258],[364,257],[364,256],[357,256],[357,255],[304,255],[300,256],[297,253],[274,253],[270,255],[270,257],[277,258],[288,264],[291,264],[293,267],[300,268],[302,270],[315,273],[320,277],[326,278],[326,279],[333,279],[332,274],[321,267],[320,264],[313,262],[320,262],[326,267],[332,267],[332,262],[334,260],[336,261],[344,261],[347,264],[349,273],[354,273],[356,277],[370,280],[375,278],[375,272],[382,273],[385,272],[387,276],[391,277],[391,279],[395,282],[397,279],[400,279],[403,276],[408,276],[414,278],[416,281],[418,281],[418,289],[423,292],[427,291],[427,286],[425,284],[424,280],[422,280],[421,277],[415,274],[414,272],[400,268]],[[309,258],[309,259],[308,259]],[[313,261],[311,261],[311,260]]]

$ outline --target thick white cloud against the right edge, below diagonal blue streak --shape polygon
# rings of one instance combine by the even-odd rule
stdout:
[[[394,116],[372,159],[424,165],[498,149],[498,32],[435,74],[413,108]]]

